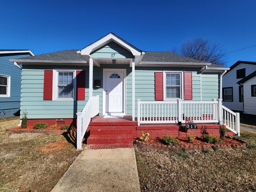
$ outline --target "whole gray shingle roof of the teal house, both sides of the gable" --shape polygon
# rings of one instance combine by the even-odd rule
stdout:
[[[85,61],[83,57],[77,54],[78,50],[64,50],[52,52],[48,54],[35,55],[31,57],[23,57],[17,60],[29,61]],[[198,61],[172,52],[145,52],[141,62],[157,62],[157,63],[202,63],[209,64],[206,61]],[[222,66],[211,64],[211,68],[220,68]]]

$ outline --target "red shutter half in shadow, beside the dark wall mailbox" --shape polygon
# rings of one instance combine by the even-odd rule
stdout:
[[[76,71],[76,100],[85,100],[85,71]]]

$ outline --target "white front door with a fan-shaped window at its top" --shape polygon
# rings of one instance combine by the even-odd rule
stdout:
[[[106,113],[124,113],[124,72],[106,71]]]

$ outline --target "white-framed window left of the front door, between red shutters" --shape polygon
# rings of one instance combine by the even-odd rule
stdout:
[[[53,70],[53,100],[76,100],[76,70]]]

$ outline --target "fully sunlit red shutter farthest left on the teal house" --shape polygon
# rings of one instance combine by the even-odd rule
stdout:
[[[43,100],[52,100],[52,70],[45,70]]]

